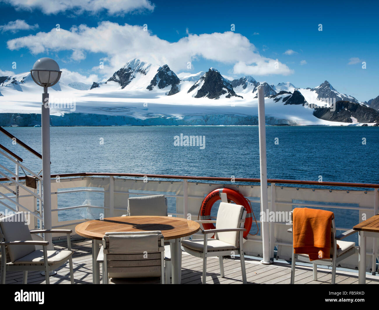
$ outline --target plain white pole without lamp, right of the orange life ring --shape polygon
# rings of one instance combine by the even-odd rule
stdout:
[[[263,85],[258,87],[258,128],[259,128],[259,161],[260,161],[260,188],[261,188],[261,212],[268,211],[267,193],[267,159],[266,159],[266,117],[265,117],[265,95]],[[262,217],[263,218],[263,217]],[[272,264],[270,260],[270,232],[267,221],[268,214],[261,222],[263,260],[264,265]]]

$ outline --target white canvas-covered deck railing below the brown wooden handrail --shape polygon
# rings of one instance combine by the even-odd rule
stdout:
[[[182,180],[171,178],[170,180],[172,176],[159,176],[159,178],[149,177],[146,180],[146,178],[140,177],[121,178],[116,177],[116,174],[110,174],[108,176],[104,174],[98,177],[86,175],[89,174],[67,178],[61,176],[60,178],[52,179],[52,228],[67,227],[74,231],[77,224],[90,219],[83,218],[76,214],[77,218],[60,220],[59,215],[62,213],[66,213],[67,217],[70,212],[77,212],[78,209],[92,208],[93,210],[103,211],[101,213],[103,213],[104,217],[121,216],[127,213],[128,197],[148,196],[157,193],[163,193],[169,198],[169,214],[196,220],[201,202],[205,195],[214,189],[223,187],[236,189],[251,200],[255,217],[257,218],[258,225],[260,225],[260,210],[258,207],[260,204],[260,186],[254,183],[256,181],[252,181],[251,183],[226,182],[222,184],[196,182],[197,177],[192,179],[188,177]],[[57,180],[59,180],[59,182],[57,182]],[[205,181],[203,180],[202,182]],[[246,183],[248,185],[246,185]],[[340,185],[341,183],[338,184]],[[319,185],[323,185],[323,183],[319,183]],[[329,184],[326,183],[325,185]],[[352,184],[349,184],[349,186],[354,187]],[[364,188],[363,185],[358,185],[357,188],[362,187]],[[379,186],[373,188],[373,185],[370,185],[368,187],[371,188],[365,190],[296,188],[291,186],[277,186],[276,183],[272,182],[271,185],[268,186],[268,203],[271,211],[283,211],[287,213],[292,211],[295,206],[310,208],[321,207],[337,213],[345,210],[345,214],[350,214],[350,221],[354,222],[353,225],[355,225],[362,221],[363,216],[370,218],[378,211]],[[0,188],[0,192],[2,190],[5,189]],[[63,205],[65,200],[73,199],[72,195],[78,195],[80,193],[85,193],[89,196],[103,193],[102,204],[96,205],[89,203],[81,205],[82,201],[80,199],[83,200],[83,197],[79,197],[78,200],[75,200],[75,203]],[[69,197],[64,195],[69,195]],[[32,198],[31,195],[23,196],[23,199]],[[352,213],[354,211],[356,211],[356,214]],[[346,216],[346,218],[348,217]],[[336,221],[338,223],[337,216]],[[352,225],[347,225],[346,222],[340,224],[342,225],[339,225],[338,230],[346,231],[352,228]],[[253,223],[252,229],[254,229],[254,225],[255,223]],[[276,247],[277,258],[290,260],[292,235],[287,232],[288,225],[286,225],[284,221],[277,221],[269,223],[269,226],[270,257],[274,257],[274,247]],[[371,268],[375,271],[377,243],[370,239],[373,238],[368,238],[367,240],[368,252],[366,268],[368,270]],[[259,234],[255,236],[249,235],[244,248],[247,255],[262,257],[262,237]],[[358,254],[352,255],[344,260],[341,266],[356,269],[358,267]]]

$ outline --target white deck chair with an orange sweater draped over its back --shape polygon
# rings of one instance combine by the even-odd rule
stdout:
[[[292,233],[293,230],[293,211],[290,213],[291,216],[291,228],[288,229],[288,232]],[[356,233],[357,230],[348,230],[341,235],[337,236],[337,229],[335,227],[334,219],[332,219],[332,236],[331,236],[331,248],[330,248],[330,259],[319,259],[319,260],[309,260],[309,256],[306,254],[295,254],[292,249],[292,261],[291,261],[291,284],[294,284],[295,281],[295,265],[296,260],[303,261],[306,263],[312,263],[313,266],[313,280],[317,281],[317,265],[322,266],[332,266],[332,284],[335,284],[335,272],[337,263],[341,260],[344,260],[346,257],[353,255],[356,252],[355,242],[341,241],[343,238]],[[338,246],[337,249],[337,241]],[[334,259],[335,258],[335,259]]]

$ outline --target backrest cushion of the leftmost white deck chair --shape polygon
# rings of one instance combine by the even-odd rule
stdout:
[[[8,215],[0,219],[0,227],[6,242],[33,240],[27,223],[22,222],[22,219],[24,219],[22,212]],[[36,251],[34,245],[7,246],[7,248],[12,262]]]

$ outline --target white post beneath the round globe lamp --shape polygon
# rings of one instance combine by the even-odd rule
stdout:
[[[43,226],[44,229],[52,229],[51,222],[51,185],[50,185],[50,106],[47,87],[42,94],[42,182],[43,182]],[[49,241],[49,249],[53,249],[51,233],[44,234],[44,241]]]

